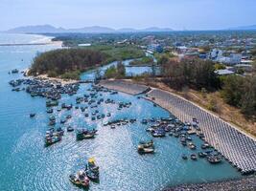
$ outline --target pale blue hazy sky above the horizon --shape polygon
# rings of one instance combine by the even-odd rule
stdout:
[[[0,31],[44,24],[221,30],[256,25],[256,0],[0,0]]]

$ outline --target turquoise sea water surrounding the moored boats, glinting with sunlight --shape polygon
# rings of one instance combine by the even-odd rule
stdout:
[[[0,34],[1,43],[35,42],[43,36]],[[203,182],[239,178],[241,175],[229,163],[223,161],[211,165],[205,159],[192,161],[181,159],[183,153],[192,153],[182,147],[177,138],[154,138],[156,153],[138,155],[137,144],[151,135],[140,122],[110,129],[103,123],[110,119],[144,117],[169,117],[170,114],[152,103],[126,94],[109,95],[116,101],[130,101],[128,109],[102,104],[100,114],[112,116],[91,121],[80,110],[61,111],[56,117],[72,114],[74,127],[94,127],[98,136],[76,141],[75,132],[66,133],[62,141],[44,147],[44,134],[48,129],[45,99],[31,97],[25,92],[12,92],[8,82],[21,74],[8,74],[14,68],[28,68],[37,52],[56,49],[57,46],[0,47],[0,190],[80,190],[69,180],[70,173],[81,169],[86,159],[94,157],[100,166],[100,182],[91,182],[89,190],[159,190],[168,185],[186,182]],[[22,61],[23,60],[23,61]],[[134,70],[134,69],[132,69]],[[137,71],[136,71],[137,72]],[[92,72],[82,78],[89,79]],[[81,85],[78,95],[88,94],[90,84]],[[61,102],[74,103],[76,96],[62,96]],[[84,104],[83,104],[84,105]],[[89,113],[93,109],[89,109]],[[30,113],[36,113],[30,118]],[[198,145],[200,140],[193,137]]]

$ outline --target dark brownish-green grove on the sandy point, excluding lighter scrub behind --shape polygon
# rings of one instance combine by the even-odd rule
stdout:
[[[41,53],[35,57],[30,74],[48,74],[77,79],[81,72],[105,63],[105,53],[82,49],[63,49]]]

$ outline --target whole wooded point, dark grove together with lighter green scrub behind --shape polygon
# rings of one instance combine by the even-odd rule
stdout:
[[[107,64],[115,60],[137,58],[143,51],[132,46],[92,46],[50,51],[38,54],[31,66],[30,73],[47,74],[49,77],[79,79],[88,69]]]

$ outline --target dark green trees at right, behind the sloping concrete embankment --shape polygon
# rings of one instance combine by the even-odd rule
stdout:
[[[203,97],[209,91],[221,91],[223,100],[241,109],[246,117],[256,116],[256,74],[249,76],[227,75],[218,76],[214,73],[216,65],[211,61],[198,59],[183,59],[180,62],[175,60],[164,60],[161,64],[162,81],[175,90],[183,90],[189,86],[192,89],[200,90]],[[206,107],[218,112],[218,105],[215,99],[211,99]]]

